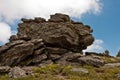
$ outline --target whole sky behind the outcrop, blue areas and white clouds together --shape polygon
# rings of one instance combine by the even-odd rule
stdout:
[[[88,51],[104,52],[107,49],[115,56],[120,49],[119,8],[120,0],[1,0],[0,45],[17,32],[22,17],[48,19],[50,14],[61,12],[94,30],[95,42]]]

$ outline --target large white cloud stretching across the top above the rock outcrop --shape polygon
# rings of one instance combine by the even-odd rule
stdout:
[[[100,0],[0,0],[0,18],[7,22],[21,17],[66,13],[71,17],[81,17],[85,13],[98,13]]]

